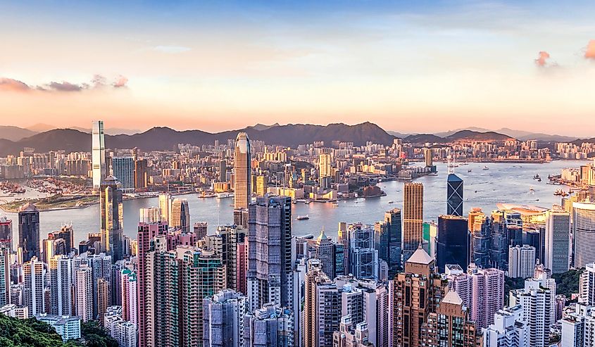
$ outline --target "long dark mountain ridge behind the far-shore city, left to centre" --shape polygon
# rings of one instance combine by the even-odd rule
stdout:
[[[352,141],[356,146],[373,141],[377,144],[392,144],[394,136],[370,122],[358,125],[342,123],[330,125],[288,124],[271,127],[246,127],[240,130],[210,133],[201,130],[176,131],[168,127],[154,127],[140,134],[106,135],[106,148],[131,149],[138,147],[142,151],[173,150],[177,144],[201,146],[213,144],[216,140],[225,143],[227,139],[235,139],[238,132],[248,133],[250,139],[265,141],[267,144],[282,146],[298,146],[311,144],[314,141]],[[17,154],[23,147],[32,147],[37,152],[52,150],[90,151],[91,135],[72,129],[56,129],[35,134],[19,141],[0,140],[0,156]]]

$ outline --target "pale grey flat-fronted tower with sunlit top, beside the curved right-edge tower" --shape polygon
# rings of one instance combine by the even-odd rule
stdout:
[[[594,230],[595,231],[595,230]],[[553,274],[568,271],[570,267],[570,213],[554,205],[546,212],[546,244],[541,260]]]

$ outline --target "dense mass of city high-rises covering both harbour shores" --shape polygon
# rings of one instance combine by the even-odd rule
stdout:
[[[423,184],[406,182],[401,208],[379,211],[372,225],[340,222],[333,240],[324,230],[292,234],[292,205],[378,196],[379,180],[431,174],[432,160],[449,151],[401,141],[287,149],[241,132],[227,144],[141,154],[106,151],[102,122],[94,122],[92,144],[90,157],[23,160],[22,153],[3,171],[77,172],[92,177],[90,189],[99,194],[101,229],[77,245],[75,225],[41,240],[33,203],[20,207],[14,223],[0,220],[0,313],[36,317],[63,341],[80,339],[81,322],[94,320],[121,347],[545,347],[595,340],[595,163],[579,178],[585,189],[559,205],[501,203],[468,215],[463,179],[449,173],[437,222],[424,220]],[[458,144],[454,156],[498,156],[515,146],[518,158],[549,156],[531,141],[477,146]],[[408,167],[405,159],[415,157],[425,166]],[[124,236],[125,195],[162,189],[163,182],[173,189],[139,211],[136,239]],[[232,225],[214,233],[206,222],[191,225],[188,201],[175,197],[187,184],[204,198],[233,192]],[[581,271],[579,291],[557,295],[554,277],[571,269]],[[508,279],[520,288],[508,290]]]

